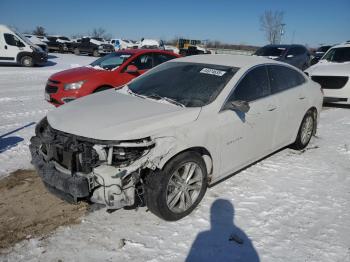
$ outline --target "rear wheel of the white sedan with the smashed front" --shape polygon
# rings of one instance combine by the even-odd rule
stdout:
[[[297,138],[290,146],[291,148],[302,150],[309,144],[312,135],[315,133],[315,122],[315,113],[312,110],[307,111],[300,124]]]

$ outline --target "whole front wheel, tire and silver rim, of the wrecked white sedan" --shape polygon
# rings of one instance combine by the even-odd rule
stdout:
[[[196,208],[207,184],[207,169],[201,155],[181,153],[166,164],[163,172],[153,172],[146,177],[146,204],[158,217],[176,221]]]

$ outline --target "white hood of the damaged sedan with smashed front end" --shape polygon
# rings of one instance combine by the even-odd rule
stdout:
[[[50,111],[54,129],[99,140],[132,140],[192,121],[200,108],[183,108],[107,90]]]

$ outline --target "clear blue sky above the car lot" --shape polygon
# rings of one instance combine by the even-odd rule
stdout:
[[[219,40],[264,45],[259,17],[284,11],[283,43],[318,46],[350,40],[350,0],[90,1],[0,0],[0,23],[20,31],[45,27],[50,34],[88,34],[102,27],[113,37]]]

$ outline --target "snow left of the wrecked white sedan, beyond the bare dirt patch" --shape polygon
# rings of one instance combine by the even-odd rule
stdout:
[[[0,66],[0,177],[31,167],[28,145],[34,134],[34,123],[54,108],[44,100],[48,77],[64,69],[87,65],[95,59],[51,54],[45,67]]]

